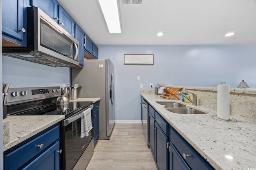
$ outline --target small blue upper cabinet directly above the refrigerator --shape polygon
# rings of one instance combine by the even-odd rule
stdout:
[[[92,42],[92,40],[87,35],[85,35],[84,37],[84,49],[87,53],[90,54],[86,55],[87,59],[98,59],[98,47]]]

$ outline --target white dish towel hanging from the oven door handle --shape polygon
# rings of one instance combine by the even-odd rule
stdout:
[[[81,138],[85,136],[89,136],[89,132],[92,129],[92,116],[91,116],[91,108],[83,111],[83,116],[81,119]]]

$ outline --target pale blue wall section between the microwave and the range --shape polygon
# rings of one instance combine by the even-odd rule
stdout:
[[[62,86],[70,83],[70,68],[55,68],[3,56],[3,82],[10,88]]]

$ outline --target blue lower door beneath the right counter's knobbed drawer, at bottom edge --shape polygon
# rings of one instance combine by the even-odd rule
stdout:
[[[170,142],[169,146],[170,155],[170,170],[190,170],[188,165],[184,162],[178,151],[174,148],[172,143]]]

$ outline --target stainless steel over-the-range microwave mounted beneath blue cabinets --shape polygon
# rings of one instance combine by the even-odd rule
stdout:
[[[79,42],[36,7],[27,8],[27,47],[3,47],[3,55],[54,67],[79,66]]]

